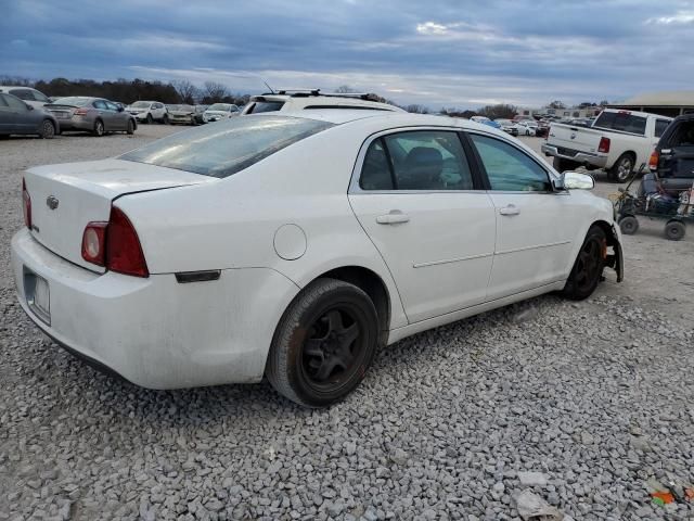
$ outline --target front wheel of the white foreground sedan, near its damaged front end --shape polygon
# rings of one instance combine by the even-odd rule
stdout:
[[[603,276],[607,238],[599,226],[591,226],[574,263],[563,294],[571,301],[588,298]]]

